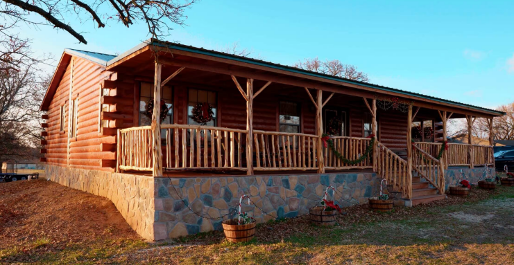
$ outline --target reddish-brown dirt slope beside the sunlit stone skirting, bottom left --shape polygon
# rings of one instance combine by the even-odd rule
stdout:
[[[42,179],[0,183],[0,194],[0,250],[24,253],[0,261],[31,262],[98,239],[140,239],[103,197]]]

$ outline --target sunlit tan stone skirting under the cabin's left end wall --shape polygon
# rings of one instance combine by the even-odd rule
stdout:
[[[155,240],[153,177],[55,165],[46,165],[45,172],[51,181],[110,199],[132,229],[144,239]]]

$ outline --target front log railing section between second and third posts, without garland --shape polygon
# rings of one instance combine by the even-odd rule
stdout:
[[[317,170],[318,136],[277,131],[253,131],[253,170]]]

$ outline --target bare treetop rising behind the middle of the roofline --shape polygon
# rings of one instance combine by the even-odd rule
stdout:
[[[350,80],[361,82],[369,81],[367,73],[357,71],[357,66],[353,66],[352,64],[343,64],[339,60],[326,60],[325,62],[321,62],[318,57],[314,59],[307,58],[303,61],[298,61],[293,66],[308,71],[334,75],[336,77],[343,77]]]

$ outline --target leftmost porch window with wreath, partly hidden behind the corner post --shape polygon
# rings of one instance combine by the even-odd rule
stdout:
[[[166,107],[169,109],[168,115],[161,124],[171,125],[173,123],[173,86],[162,87],[161,98],[166,102]],[[145,114],[146,103],[150,100],[153,100],[153,84],[141,83],[141,91],[139,92],[139,126],[152,125],[152,117]],[[166,137],[165,130],[161,131],[161,137]]]

